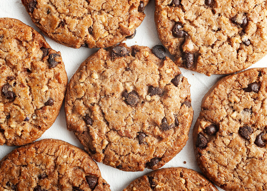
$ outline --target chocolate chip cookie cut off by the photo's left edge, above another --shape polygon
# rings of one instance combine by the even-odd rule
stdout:
[[[54,123],[68,77],[60,52],[19,20],[0,18],[0,145],[26,145]]]

